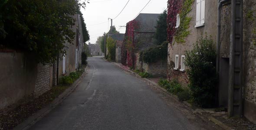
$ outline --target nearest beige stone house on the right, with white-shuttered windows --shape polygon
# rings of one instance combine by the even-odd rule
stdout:
[[[173,13],[171,19],[175,26],[173,32],[168,32],[171,43],[168,45],[167,78],[178,78],[184,86],[188,84],[185,51],[193,49],[193,43],[207,33],[217,43],[217,104],[227,107],[230,116],[245,116],[256,123],[256,52],[253,44],[256,23],[252,22],[256,14],[255,0],[218,1],[194,0],[187,13],[187,17],[191,17],[187,29],[190,35],[184,43],[175,40],[174,32],[181,23],[179,11],[168,10]]]

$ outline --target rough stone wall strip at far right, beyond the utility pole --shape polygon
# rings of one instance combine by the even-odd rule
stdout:
[[[244,116],[256,123],[256,1],[244,0],[243,3]],[[251,11],[252,19],[249,17]]]

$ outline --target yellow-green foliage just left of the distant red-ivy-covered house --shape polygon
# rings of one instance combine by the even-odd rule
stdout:
[[[108,60],[115,60],[115,43],[116,41],[111,37],[107,39]]]

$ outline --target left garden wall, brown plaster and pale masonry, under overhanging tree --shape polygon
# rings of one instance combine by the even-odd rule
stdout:
[[[33,62],[31,54],[0,50],[0,110],[38,97],[52,87],[52,67]]]

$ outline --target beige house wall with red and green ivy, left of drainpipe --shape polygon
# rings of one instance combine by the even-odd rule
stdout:
[[[207,33],[216,41],[217,36],[217,1],[205,1],[205,26],[195,28],[196,25],[196,0],[168,0],[167,9],[167,40],[168,58],[167,58],[167,78],[169,80],[178,78],[178,80],[186,86],[188,77],[185,71],[174,70],[175,55],[179,55],[179,69],[181,69],[181,55],[185,55],[185,51],[193,49],[195,43],[201,34]],[[180,14],[180,27],[176,26],[176,16]]]

